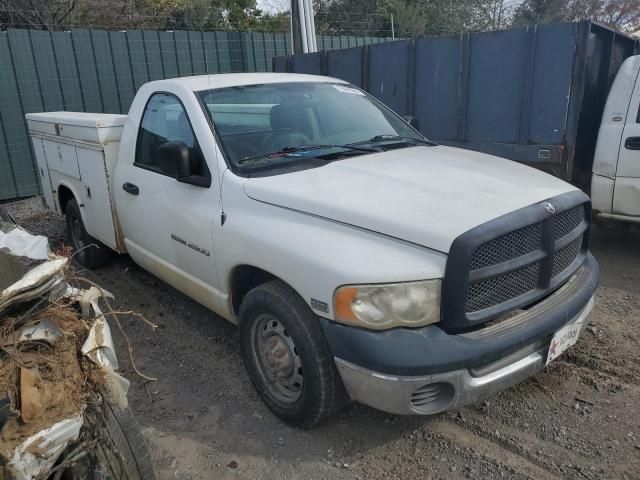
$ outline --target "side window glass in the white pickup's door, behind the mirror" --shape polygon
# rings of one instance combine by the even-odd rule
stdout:
[[[187,113],[177,97],[156,93],[147,103],[136,143],[135,164],[164,175],[176,176],[175,165],[162,164],[158,148],[167,142],[183,142],[189,149],[197,176],[210,177]]]

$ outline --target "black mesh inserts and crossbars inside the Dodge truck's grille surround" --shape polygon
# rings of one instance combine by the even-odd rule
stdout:
[[[548,288],[580,255],[584,220],[585,206],[578,205],[477,246],[469,262],[470,276],[476,275],[468,284],[465,311],[492,309]],[[546,230],[544,222],[550,222]],[[553,241],[545,242],[545,232],[549,232],[548,236],[553,234]],[[567,237],[571,235],[578,236],[567,244]],[[529,255],[528,259],[523,258]],[[548,262],[546,268],[545,262]]]

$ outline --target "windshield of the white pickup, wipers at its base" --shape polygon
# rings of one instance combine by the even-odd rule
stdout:
[[[241,171],[280,169],[431,144],[362,90],[322,82],[198,92],[228,159]]]

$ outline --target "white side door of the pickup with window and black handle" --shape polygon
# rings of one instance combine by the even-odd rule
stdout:
[[[175,165],[158,149],[183,142],[198,159],[202,184],[178,181]],[[213,251],[213,221],[219,217],[220,195],[180,99],[153,94],[144,109],[136,140],[135,159],[118,165],[118,216],[127,251],[136,263],[165,282],[216,309],[217,277]],[[208,185],[206,179],[208,178]]]

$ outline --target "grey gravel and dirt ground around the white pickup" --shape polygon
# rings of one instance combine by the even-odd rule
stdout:
[[[7,205],[33,233],[65,241],[64,222],[37,199]],[[87,272],[160,328],[125,325],[144,383],[131,406],[159,480],[640,478],[640,236],[595,229],[602,268],[591,326],[562,357],[488,401],[433,417],[348,406],[311,431],[291,428],[259,400],[236,328],[127,257]]]

